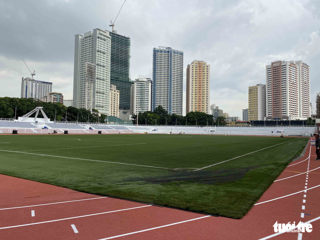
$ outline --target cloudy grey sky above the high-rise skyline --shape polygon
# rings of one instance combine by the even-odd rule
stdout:
[[[21,77],[52,82],[73,96],[74,35],[111,30],[123,0],[0,0],[0,97],[20,97]],[[311,101],[320,92],[320,1],[127,0],[114,29],[131,38],[130,77],[152,78],[152,49],[168,46],[211,65],[210,104],[230,116],[248,108],[248,86],[265,84],[265,66],[303,60],[310,66]]]

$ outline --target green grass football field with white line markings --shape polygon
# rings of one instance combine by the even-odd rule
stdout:
[[[0,135],[0,173],[242,218],[307,142],[253,136]]]

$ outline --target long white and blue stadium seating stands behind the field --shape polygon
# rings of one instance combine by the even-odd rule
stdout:
[[[0,133],[12,133],[12,130],[18,130],[18,133],[135,133],[136,125],[105,125],[105,124],[75,124],[75,123],[28,123],[0,121]],[[156,130],[156,131],[155,131]],[[278,131],[278,132],[277,132]],[[258,136],[310,136],[315,131],[311,126],[278,126],[278,127],[195,127],[195,126],[138,126],[139,133],[153,134],[207,134],[207,135],[258,135]]]

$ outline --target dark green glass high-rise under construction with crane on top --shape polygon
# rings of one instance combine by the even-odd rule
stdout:
[[[130,37],[109,32],[111,36],[111,68],[110,83],[120,91],[119,108],[130,109]]]

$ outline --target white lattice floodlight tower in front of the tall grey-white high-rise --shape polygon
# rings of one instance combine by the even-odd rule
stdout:
[[[85,63],[85,109],[92,113],[92,91],[93,83],[96,82],[96,65],[91,62]]]

